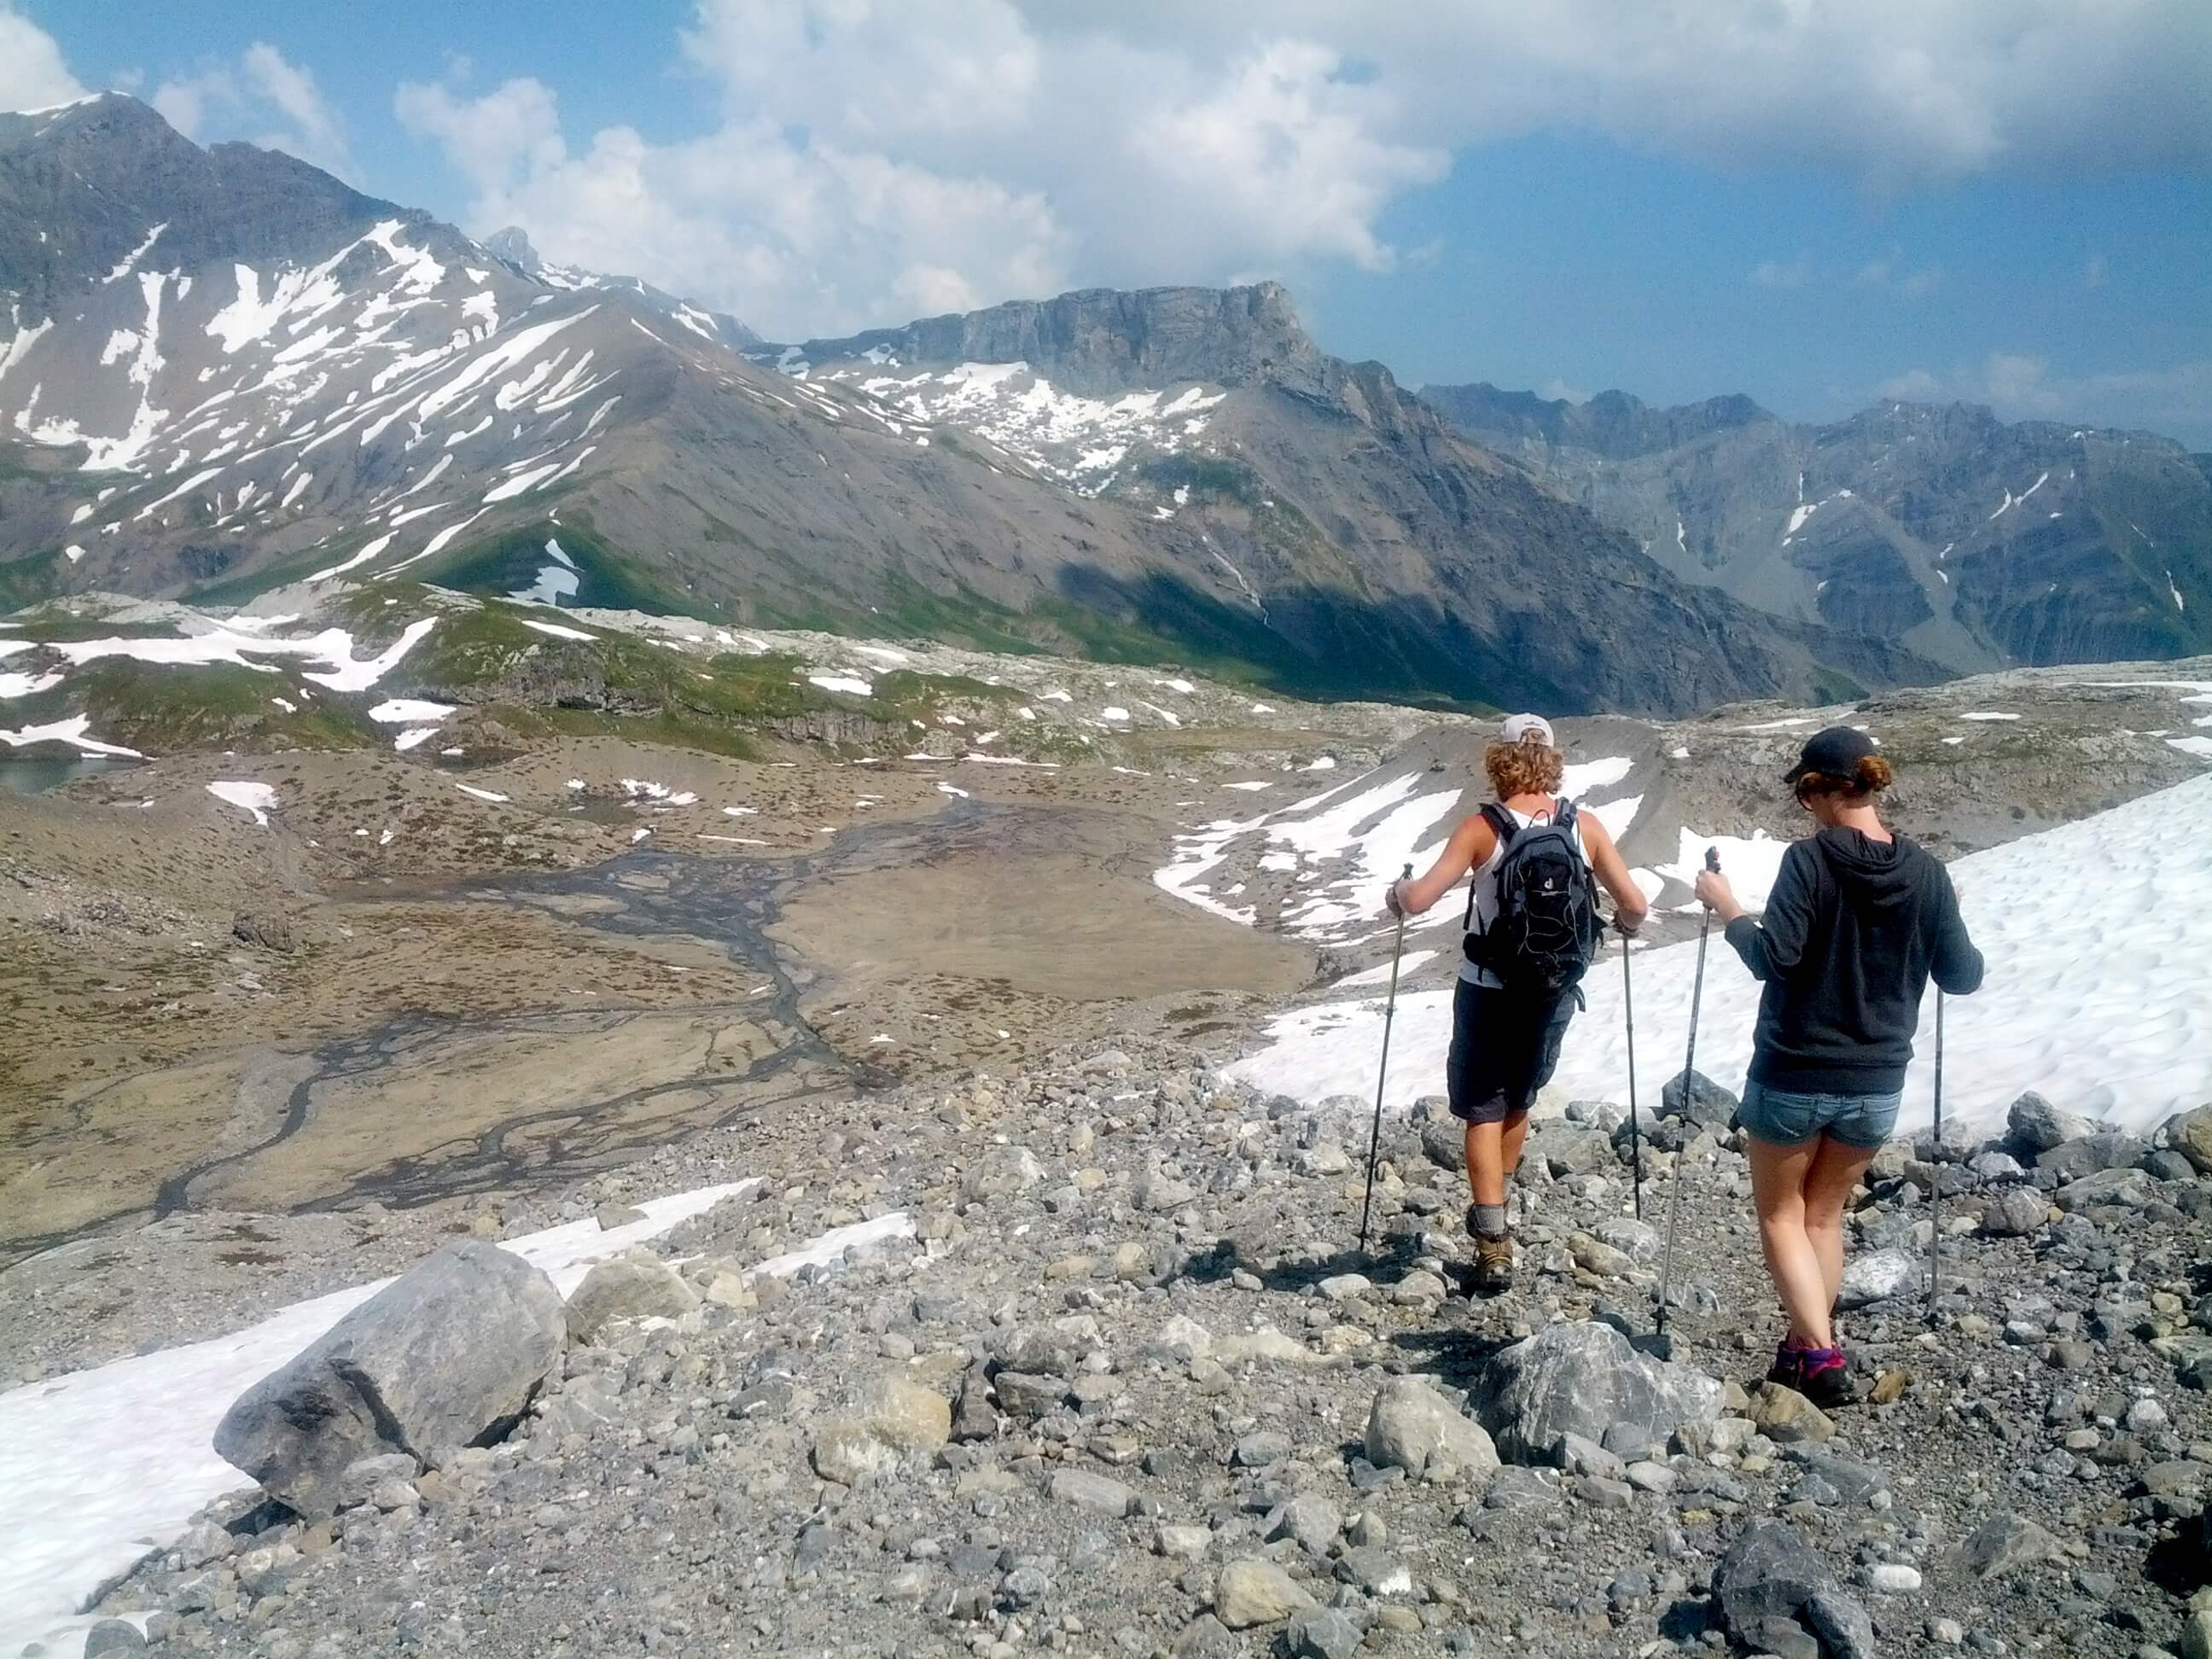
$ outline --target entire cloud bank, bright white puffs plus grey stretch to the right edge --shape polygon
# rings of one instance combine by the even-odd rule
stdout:
[[[473,228],[611,248],[770,334],[1033,281],[1389,270],[1394,204],[1537,131],[1878,192],[2212,164],[2201,0],[692,0],[675,49],[719,111],[672,142],[564,133],[555,88],[478,95],[462,66],[396,111],[471,186]]]

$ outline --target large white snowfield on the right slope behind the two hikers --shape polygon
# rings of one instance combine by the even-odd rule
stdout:
[[[1686,834],[1686,854],[1690,841]],[[1783,843],[1765,845],[1778,860]],[[1721,860],[1728,867],[1725,849]],[[1989,980],[1978,995],[1951,998],[1944,1011],[1947,1121],[1997,1124],[2022,1091],[2035,1088],[2141,1135],[2212,1097],[2212,998],[2203,989],[2212,962],[2212,776],[1969,854],[1951,876]],[[1681,1071],[1694,964],[1694,940],[1635,958],[1644,1102],[1657,1102]],[[1559,1104],[1626,1102],[1617,951],[1597,962],[1584,989],[1590,1006],[1568,1033],[1551,1095]],[[1905,1128],[1927,1124],[1933,1108],[1933,998],[1931,989],[1920,1057],[1905,1086]],[[1699,1071],[1743,1086],[1756,1009],[1759,984],[1714,931]],[[1374,1099],[1380,1035],[1380,998],[1296,1009],[1270,1022],[1265,1044],[1230,1075],[1305,1102]],[[1449,1040],[1449,989],[1398,998],[1385,1095],[1391,1108],[1442,1093]]]

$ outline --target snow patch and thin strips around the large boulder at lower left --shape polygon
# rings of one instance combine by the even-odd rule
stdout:
[[[602,1232],[597,1221],[571,1221],[500,1248],[544,1267],[568,1296],[593,1263],[752,1186],[759,1181],[677,1192],[639,1203],[646,1219],[626,1228]],[[825,1232],[752,1274],[785,1279],[834,1263],[854,1245],[909,1237],[914,1221],[887,1214]],[[77,1617],[77,1606],[93,1590],[179,1537],[197,1509],[252,1484],[215,1455],[215,1425],[230,1402],[389,1283],[294,1303],[208,1343],[0,1394],[0,1652],[20,1652],[29,1641],[44,1641],[53,1655],[75,1652],[93,1624]]]

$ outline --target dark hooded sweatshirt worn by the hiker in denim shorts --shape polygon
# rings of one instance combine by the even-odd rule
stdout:
[[[1792,843],[1761,920],[1728,942],[1765,982],[1752,1077],[1805,1095],[1893,1095],[1913,1057],[1929,975],[1982,987],[1951,872],[1905,836],[1823,830]]]

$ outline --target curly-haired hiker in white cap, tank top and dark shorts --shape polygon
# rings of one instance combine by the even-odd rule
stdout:
[[[1471,949],[1453,995],[1444,1088],[1451,1115],[1467,1124],[1467,1232],[1475,1241],[1475,1290],[1484,1294],[1513,1285],[1506,1175],[1520,1166],[1528,1108],[1559,1064],[1566,1024],[1582,1000],[1573,984],[1562,991],[1509,987],[1475,960],[1484,956],[1482,938],[1498,920],[1498,874],[1509,843],[1517,843],[1522,832],[1559,825],[1586,863],[1584,874],[1595,874],[1613,894],[1613,925],[1624,936],[1635,933],[1650,909],[1606,825],[1575,812],[1573,801],[1559,801],[1566,757],[1553,743],[1551,723],[1542,714],[1513,714],[1500,737],[1482,757],[1495,801],[1451,832],[1429,874],[1394,883],[1387,900],[1396,916],[1420,916],[1473,872]],[[1590,925],[1584,949],[1595,947],[1595,909]]]

